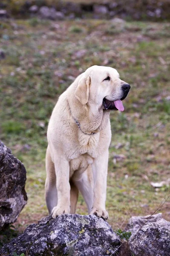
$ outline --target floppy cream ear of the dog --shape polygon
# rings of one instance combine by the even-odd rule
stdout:
[[[90,77],[89,76],[87,78],[82,77],[78,82],[78,87],[75,90],[75,96],[82,104],[86,104],[88,102],[89,85],[90,85]]]

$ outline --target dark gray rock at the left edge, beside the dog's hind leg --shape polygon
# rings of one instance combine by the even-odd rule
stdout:
[[[26,204],[26,169],[0,141],[0,229],[14,223]]]

